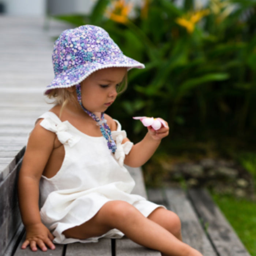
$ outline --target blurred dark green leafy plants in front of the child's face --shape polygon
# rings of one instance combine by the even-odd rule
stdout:
[[[146,2],[148,9],[133,7],[125,23],[104,15],[110,0],[98,1],[89,16],[66,17],[75,25],[102,26],[124,54],[146,65],[129,71],[128,89],[110,114],[132,140],[143,127],[131,115],[165,118],[176,138],[255,142],[256,1],[209,0],[204,10],[191,0],[182,7],[171,0]]]

